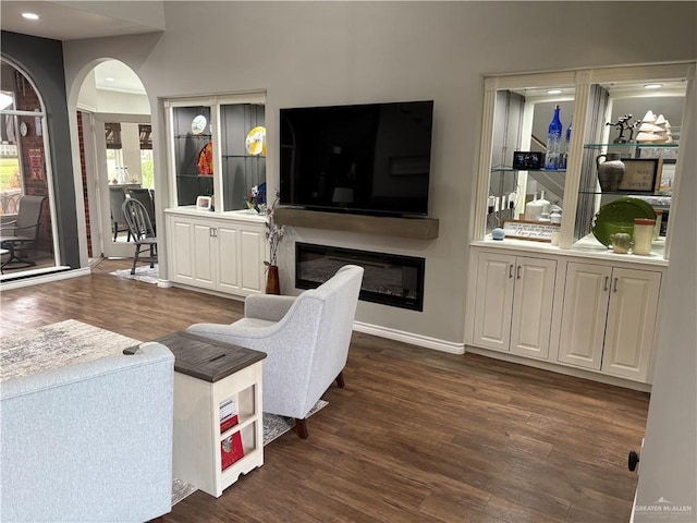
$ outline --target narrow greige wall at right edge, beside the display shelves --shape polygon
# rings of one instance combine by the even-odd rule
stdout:
[[[687,100],[692,108],[686,111],[688,121],[683,125],[681,141],[694,145],[695,89],[687,94]],[[697,521],[697,153],[693,146],[681,147],[680,154],[680,204],[677,211],[671,212],[671,220],[687,227],[675,229],[672,238],[635,522]],[[657,503],[661,498],[671,504]],[[661,512],[656,512],[657,507]],[[682,510],[687,507],[690,510]]]

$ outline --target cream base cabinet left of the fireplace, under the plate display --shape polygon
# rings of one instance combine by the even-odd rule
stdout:
[[[170,279],[242,296],[264,292],[265,222],[254,218],[168,211]]]

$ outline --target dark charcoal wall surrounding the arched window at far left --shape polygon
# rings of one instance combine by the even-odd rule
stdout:
[[[46,105],[60,262],[78,268],[80,242],[73,162],[71,156],[64,154],[71,148],[71,136],[61,42],[3,31],[1,47],[2,54],[20,65],[30,77]]]

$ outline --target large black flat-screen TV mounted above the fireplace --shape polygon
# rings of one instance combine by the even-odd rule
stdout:
[[[281,204],[427,215],[433,101],[281,109]]]

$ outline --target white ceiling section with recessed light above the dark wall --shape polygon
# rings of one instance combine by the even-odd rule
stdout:
[[[99,7],[99,4],[102,7]],[[75,40],[103,36],[135,35],[162,31],[162,27],[140,22],[129,11],[134,5],[149,2],[56,2],[56,1],[1,1],[0,24],[2,31],[51,38]],[[109,10],[108,4],[112,9]],[[118,4],[122,9],[113,9]],[[22,13],[32,12],[39,20],[25,20]],[[106,14],[107,13],[107,14]]]

